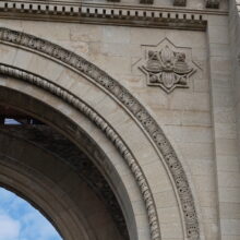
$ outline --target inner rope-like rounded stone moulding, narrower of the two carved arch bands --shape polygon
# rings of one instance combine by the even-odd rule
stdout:
[[[0,73],[36,85],[45,91],[48,91],[55,96],[63,99],[65,103],[68,103],[76,110],[82,112],[84,116],[86,116],[95,125],[97,125],[97,128],[99,128],[105,133],[105,135],[112,142],[115,147],[121,154],[127,165],[130,167],[130,170],[133,173],[133,177],[140,188],[147,212],[152,239],[160,240],[160,229],[157,217],[157,209],[147,180],[144,173],[142,172],[141,167],[137,164],[137,160],[132,155],[131,151],[121,140],[121,136],[119,136],[118,133],[109,125],[109,123],[106,122],[97,112],[95,112],[91,107],[88,107],[76,96],[63,89],[62,87],[56,85],[55,83],[51,83],[49,80],[43,79],[39,75],[35,75],[24,70],[2,63],[0,63]]]

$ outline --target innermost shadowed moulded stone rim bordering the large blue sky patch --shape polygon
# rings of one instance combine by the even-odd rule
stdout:
[[[17,161],[17,159],[15,159],[15,158],[7,156],[5,154],[2,154],[2,153],[0,153],[0,163],[1,163],[1,175],[0,176],[3,177],[3,180],[2,180],[2,178],[0,179],[0,185],[2,188],[7,189],[11,192],[14,192],[16,195],[26,200],[31,205],[33,205],[36,209],[38,209],[52,224],[52,226],[58,230],[58,232],[61,237],[68,236],[67,238],[74,240],[75,232],[73,232],[72,229],[74,229],[74,230],[77,229],[77,236],[82,236],[82,230],[84,229],[82,226],[83,218],[81,219],[81,221],[76,223],[76,221],[72,221],[71,216],[65,216],[65,218],[63,219],[63,223],[57,224],[57,221],[55,221],[55,219],[51,218],[51,216],[52,216],[52,214],[50,214],[51,211],[49,212],[49,209],[46,209],[46,208],[48,208],[48,206],[47,207],[46,207],[46,205],[41,206],[41,204],[39,204],[39,203],[37,204],[36,201],[33,201],[32,197],[28,197],[28,194],[26,194],[23,191],[25,185],[22,184],[22,182],[20,183],[20,181],[17,181],[16,179],[13,179],[12,175],[14,175],[14,173],[20,175],[23,178],[25,177],[24,179],[27,179],[28,181],[31,179],[31,181],[29,181],[31,184],[38,185],[39,189],[41,190],[41,194],[43,194],[43,192],[45,192],[46,195],[48,195],[50,197],[52,197],[52,196],[55,197],[56,191],[52,191],[52,188],[50,189],[48,185],[46,185],[50,182],[47,177],[39,175],[39,172],[34,170],[33,168]],[[8,172],[8,170],[7,170],[7,172],[5,172],[5,169],[11,169],[11,171]],[[4,173],[2,175],[2,172],[4,172]],[[23,172],[24,172],[24,175],[23,175]],[[34,175],[35,179],[40,179],[41,184],[39,184],[38,181],[35,181],[35,179],[32,178],[33,175]],[[27,182],[27,181],[25,181],[25,182]],[[50,183],[52,183],[52,182],[50,182]],[[16,184],[17,187],[15,188],[14,184]],[[20,187],[21,187],[21,190],[20,190]],[[27,185],[27,187],[28,187],[27,189],[31,191],[32,189],[29,188],[29,185]],[[59,189],[57,190],[57,193],[59,193]],[[31,191],[31,194],[33,195],[33,191]],[[37,195],[36,193],[34,193],[34,194],[35,194],[35,196]],[[58,199],[56,197],[56,200],[58,200]],[[69,202],[69,200],[64,201],[63,204],[62,204],[62,201],[61,202],[57,201],[57,202],[58,203],[55,205],[55,207],[58,209],[57,212],[59,212],[59,209],[62,209],[62,207],[64,206],[64,203]],[[85,221],[84,221],[84,224],[85,224]],[[61,226],[63,226],[63,228]],[[87,235],[84,235],[84,236],[86,236],[86,238],[87,238]],[[88,238],[87,238],[87,240],[88,240]]]

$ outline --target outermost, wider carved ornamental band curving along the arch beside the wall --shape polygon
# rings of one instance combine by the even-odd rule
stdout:
[[[116,80],[113,80],[106,72],[98,69],[93,63],[86,61],[85,59],[75,55],[74,52],[69,51],[48,40],[37,38],[35,36],[25,33],[11,31],[4,27],[0,27],[0,40],[3,43],[13,44],[20,47],[34,50],[40,55],[48,56],[50,58],[53,58],[62,62],[69,68],[74,69],[79,73],[93,80],[93,82],[97,83],[106,92],[108,92],[109,95],[113,96],[117,100],[119,100],[125,107],[125,109],[128,109],[128,111],[131,112],[132,116],[134,116],[135,120],[140,123],[142,129],[144,129],[144,131],[148,134],[148,137],[152,140],[152,142],[155,144],[155,147],[160,152],[163,156],[164,163],[167,166],[167,169],[173,179],[173,184],[177,189],[177,194],[180,200],[180,204],[181,204],[180,208],[184,216],[183,220],[185,224],[187,237],[189,239],[200,239],[200,226],[199,226],[195,203],[182,164],[179,160],[173,147],[171,146],[170,142],[166,137],[165,133],[163,132],[158,123],[147,112],[147,110],[140,104],[140,101],[135,97],[133,97],[130,92],[128,92],[128,89],[125,89]],[[37,83],[35,84],[37,85]],[[38,84],[38,85],[45,87],[44,85],[47,86],[48,84],[43,84],[43,85]],[[53,94],[56,94],[55,92],[58,92],[58,88],[52,91]],[[62,98],[67,100],[64,94],[62,94]],[[69,99],[69,104],[74,104],[74,100],[72,98]],[[124,147],[123,148],[121,147],[122,146],[121,139],[120,142],[115,140],[116,133],[107,130],[105,123],[103,123],[101,121],[103,119],[96,121],[95,115],[89,115],[88,117],[91,117],[93,121],[99,128],[101,128],[103,131],[105,131],[106,135],[108,135],[108,137],[111,141],[113,141],[115,144],[117,142],[118,144],[120,144],[119,146],[117,146],[117,148],[119,148],[120,153],[124,155],[125,159],[128,158],[127,161],[129,163],[129,166],[132,169],[130,164],[131,157],[129,156],[129,154],[125,155]],[[135,172],[139,172],[139,168],[136,168]],[[139,175],[136,173],[135,179],[139,182],[137,176]],[[144,196],[144,191],[142,192],[142,194]],[[148,196],[146,196],[146,199],[148,199]],[[146,208],[148,208],[147,205],[148,204],[146,203]],[[151,206],[153,205],[154,203],[151,204]],[[149,211],[149,216],[153,216],[154,214],[152,214],[151,212],[152,211]],[[149,226],[151,226],[151,232],[153,239],[157,239],[160,236],[159,224],[157,221],[158,221],[157,215],[154,216],[153,218],[151,217],[149,219]]]

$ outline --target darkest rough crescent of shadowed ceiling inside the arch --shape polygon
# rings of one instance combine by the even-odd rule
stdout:
[[[71,141],[45,124],[24,127],[5,125],[0,129],[0,134],[8,134],[11,137],[29,142],[31,144],[49,152],[50,155],[69,165],[105,203],[105,206],[109,211],[119,232],[124,239],[129,239],[123,214],[110,185],[86,154],[84,154]],[[81,142],[84,144],[84,148],[96,147],[86,136],[82,137]],[[92,153],[94,151],[92,149]],[[104,158],[105,156],[101,157]]]

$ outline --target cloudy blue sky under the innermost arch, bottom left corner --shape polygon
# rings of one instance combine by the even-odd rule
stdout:
[[[62,240],[32,205],[0,188],[0,240]]]

